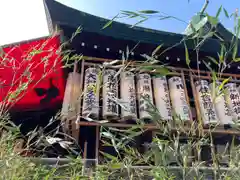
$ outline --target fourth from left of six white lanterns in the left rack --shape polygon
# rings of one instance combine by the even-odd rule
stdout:
[[[137,75],[137,98],[140,119],[152,119],[149,114],[153,105],[151,76],[147,73]]]

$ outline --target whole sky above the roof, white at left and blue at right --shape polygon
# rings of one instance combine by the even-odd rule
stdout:
[[[121,10],[157,10],[167,15],[178,17],[182,21],[153,18],[141,26],[183,33],[187,22],[200,11],[204,0],[57,0],[75,9],[104,18],[112,18]],[[188,2],[189,1],[189,2]],[[240,9],[240,0],[210,0],[207,12],[215,15],[223,6],[229,14]],[[48,35],[48,27],[43,0],[0,0],[0,45],[19,42]],[[233,27],[233,20],[220,16],[221,22],[228,29]],[[118,19],[134,24],[135,19]]]

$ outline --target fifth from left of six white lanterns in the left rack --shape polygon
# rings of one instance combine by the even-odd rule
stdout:
[[[165,76],[153,78],[153,89],[156,108],[163,120],[172,120],[169,90]]]

